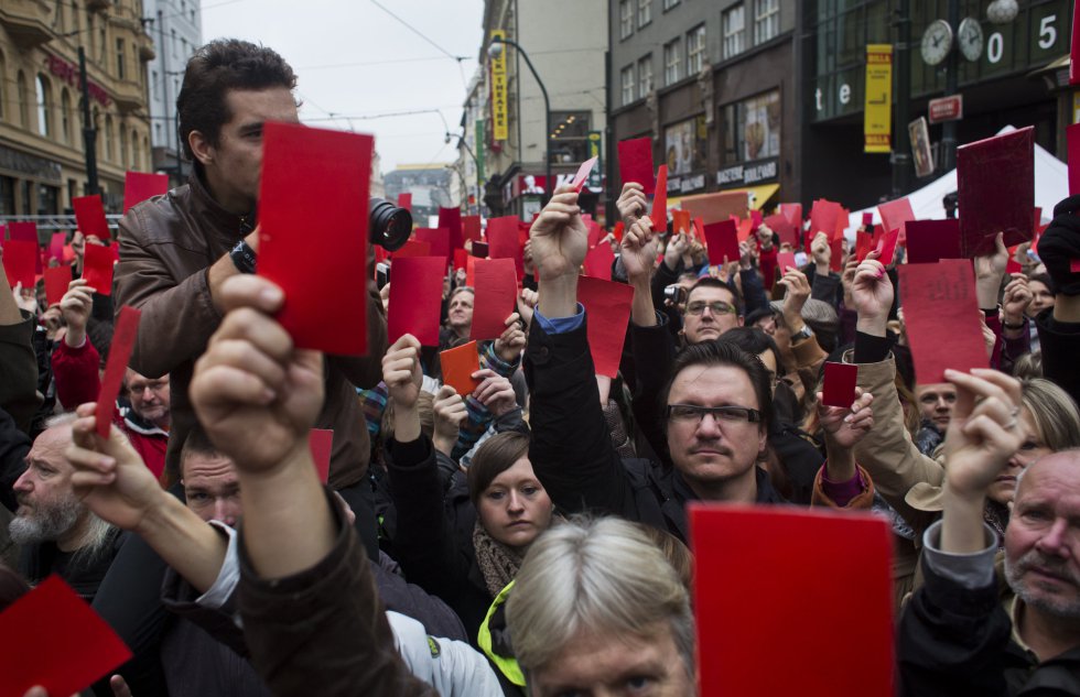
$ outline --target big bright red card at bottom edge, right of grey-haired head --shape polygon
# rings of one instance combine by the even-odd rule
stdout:
[[[688,508],[698,646],[708,656],[698,662],[703,697],[892,697],[885,520],[779,507]],[[846,658],[822,660],[814,647],[824,646]]]

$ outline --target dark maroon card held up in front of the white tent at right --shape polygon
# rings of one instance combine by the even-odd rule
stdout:
[[[994,238],[1005,247],[1034,235],[1035,129],[1027,127],[957,149],[960,249],[966,258],[994,252]]]

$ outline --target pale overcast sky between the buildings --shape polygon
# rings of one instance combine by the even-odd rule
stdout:
[[[484,0],[205,0],[203,39],[246,39],[280,53],[299,77],[301,120],[372,133],[386,173],[457,157],[444,134],[461,132],[483,11]],[[425,109],[433,111],[372,118]]]

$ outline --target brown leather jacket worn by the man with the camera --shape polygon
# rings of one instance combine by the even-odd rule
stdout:
[[[188,183],[131,208],[120,220],[120,263],[116,268],[116,309],[142,311],[131,368],[148,378],[169,373],[171,435],[165,472],[179,479],[180,449],[195,424],[187,397],[195,360],[206,349],[222,314],[210,302],[207,270],[246,235],[249,222],[222,208],[202,181]],[[382,379],[386,316],[378,294],[368,297],[368,356],[327,357],[326,402],[315,424],[334,431],[330,486],[360,481],[370,459],[370,440],[353,385]]]

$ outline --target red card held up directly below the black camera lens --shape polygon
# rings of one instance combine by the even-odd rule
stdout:
[[[407,257],[393,262],[387,331],[390,344],[404,334],[439,346],[439,313],[446,266],[441,257]]]

